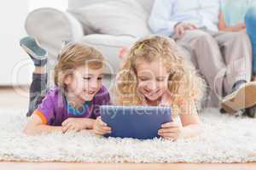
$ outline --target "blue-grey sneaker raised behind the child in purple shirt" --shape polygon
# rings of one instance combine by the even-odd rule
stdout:
[[[44,48],[38,45],[38,42],[33,37],[24,37],[20,40],[20,46],[31,57],[34,65],[44,66],[47,63],[48,53]]]

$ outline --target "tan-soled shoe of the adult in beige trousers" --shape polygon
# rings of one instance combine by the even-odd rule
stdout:
[[[242,83],[232,94],[226,96],[221,103],[224,111],[231,114],[253,105],[256,105],[256,82]]]

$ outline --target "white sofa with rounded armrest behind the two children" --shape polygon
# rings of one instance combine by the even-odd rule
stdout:
[[[111,87],[121,63],[120,48],[152,34],[148,17],[153,3],[154,0],[69,0],[66,11],[55,8],[32,11],[25,27],[28,35],[37,37],[49,51],[49,71],[53,71],[63,41],[86,42],[98,48],[107,59],[104,73],[108,77],[107,86]],[[52,79],[50,74],[49,80]],[[49,81],[49,86],[53,85]],[[208,99],[203,105],[212,105],[211,97]]]

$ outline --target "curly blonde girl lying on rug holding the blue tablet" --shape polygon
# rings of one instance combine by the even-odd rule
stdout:
[[[167,37],[146,37],[136,42],[127,54],[115,82],[117,105],[166,105],[181,119],[163,124],[159,135],[164,139],[182,139],[198,135],[200,120],[196,104],[203,94],[204,82],[177,53]],[[172,117],[173,118],[173,117]],[[101,117],[95,122],[96,133],[109,133]]]

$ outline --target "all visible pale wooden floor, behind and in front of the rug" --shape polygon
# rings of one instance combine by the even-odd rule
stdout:
[[[16,89],[16,90],[15,90]],[[20,93],[21,89],[22,93]],[[28,105],[27,87],[0,88],[0,109],[26,109]],[[0,137],[1,138],[1,137]],[[8,162],[0,161],[0,170],[256,170],[255,163],[247,164],[94,164],[61,162]]]

